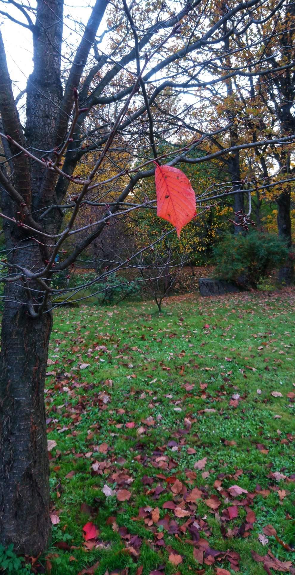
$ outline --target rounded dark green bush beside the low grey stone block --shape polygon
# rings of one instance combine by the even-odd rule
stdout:
[[[270,272],[288,259],[285,243],[272,233],[251,231],[227,234],[213,249],[214,277],[256,288]]]

